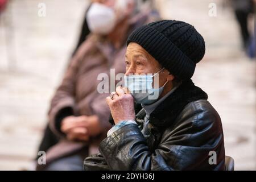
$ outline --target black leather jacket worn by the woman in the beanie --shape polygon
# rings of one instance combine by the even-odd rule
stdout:
[[[176,94],[180,95],[183,89],[184,86],[177,89]],[[164,100],[150,115],[151,134],[147,138],[141,132],[146,113],[143,109],[139,111],[138,125],[123,126],[102,140],[100,154],[86,158],[84,169],[223,170],[225,149],[221,119],[207,100],[196,99],[204,98],[203,90],[197,87],[195,90],[195,97],[191,93],[180,97],[181,104],[176,106],[181,111],[169,98],[175,94]],[[211,151],[216,152],[216,164],[209,163],[213,159]]]

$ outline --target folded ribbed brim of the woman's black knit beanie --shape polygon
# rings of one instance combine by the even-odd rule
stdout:
[[[172,75],[182,80],[191,78],[195,72],[196,63],[189,59],[170,39],[150,24],[133,31],[127,39],[127,45],[135,42],[142,46],[156,61]]]

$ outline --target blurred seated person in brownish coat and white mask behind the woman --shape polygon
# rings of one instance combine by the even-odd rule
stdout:
[[[89,35],[81,34],[48,112],[48,133],[53,131],[56,144],[46,148],[47,164],[38,164],[36,169],[82,170],[84,158],[98,152],[98,144],[111,125],[106,94],[97,90],[97,76],[110,75],[110,68],[115,74],[125,71],[120,60],[124,59],[127,36],[142,24],[159,19],[147,7],[140,10],[134,0],[92,1],[83,26],[88,27]]]

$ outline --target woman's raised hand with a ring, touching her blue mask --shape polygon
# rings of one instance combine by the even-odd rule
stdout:
[[[128,93],[127,89],[118,86],[115,89],[117,94],[114,94],[113,100],[110,97],[106,98],[106,102],[109,105],[112,117],[115,124],[124,120],[134,120],[134,100],[133,96]]]

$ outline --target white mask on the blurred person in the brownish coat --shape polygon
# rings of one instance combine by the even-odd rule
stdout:
[[[86,14],[86,20],[91,32],[94,34],[107,35],[115,26],[116,16],[112,8],[94,2]]]

